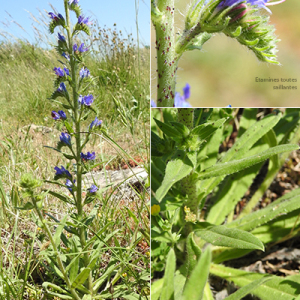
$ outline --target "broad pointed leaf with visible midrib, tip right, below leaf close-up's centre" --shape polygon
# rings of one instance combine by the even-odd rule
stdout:
[[[204,223],[204,224],[202,224]],[[263,243],[254,235],[239,229],[229,229],[224,225],[209,226],[207,222],[196,224],[207,226],[204,229],[195,229],[194,232],[203,240],[215,246],[231,247],[238,249],[258,249],[264,251]]]

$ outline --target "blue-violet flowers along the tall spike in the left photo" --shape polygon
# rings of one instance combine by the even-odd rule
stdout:
[[[75,11],[77,18],[78,18],[78,22],[75,25],[74,31],[73,31],[73,35],[75,33],[77,33],[78,31],[84,31],[87,34],[89,33],[89,28],[88,26],[92,24],[92,22],[90,21],[89,17],[84,17],[83,15],[81,15],[81,9],[78,6],[78,2],[79,0],[70,0],[68,1],[69,4],[69,8],[73,11]],[[53,20],[50,25],[50,32],[54,32],[54,28],[56,26],[63,26],[65,27],[65,19],[61,14],[54,14],[54,13],[49,13],[50,18]],[[68,108],[72,108],[73,113],[76,109],[84,109],[84,107],[91,107],[91,105],[94,102],[94,97],[93,95],[89,94],[86,96],[82,96],[79,95],[78,97],[78,107],[74,107],[74,103],[71,102],[70,98],[69,98],[69,94],[67,91],[67,86],[65,84],[65,82],[69,82],[71,84],[71,82],[75,81],[75,78],[71,78],[71,72],[69,71],[69,69],[67,68],[67,66],[72,68],[78,68],[78,65],[82,62],[82,54],[86,53],[89,48],[85,46],[84,43],[81,44],[77,44],[77,43],[72,43],[72,53],[70,53],[70,48],[68,46],[68,39],[65,37],[65,35],[63,35],[61,32],[57,33],[57,38],[58,38],[58,46],[56,47],[58,53],[60,53],[60,55],[62,55],[64,58],[67,59],[67,65],[63,68],[60,67],[55,67],[53,69],[53,71],[55,72],[56,76],[58,77],[55,81],[55,85],[57,86],[57,89],[54,91],[54,93],[51,96],[51,99],[56,99],[57,97],[63,97],[65,98],[69,105],[67,105]],[[70,56],[73,57],[73,60],[70,60]],[[69,76],[69,77],[68,77]],[[78,76],[78,75],[77,75]],[[82,67],[79,71],[79,78],[80,78],[80,82],[79,85],[77,87],[77,93],[79,94],[80,91],[80,87],[82,84],[82,80],[84,78],[87,78],[90,76],[90,71],[88,68],[86,67]],[[74,89],[74,87],[72,86],[72,88]],[[69,111],[71,113],[71,111]],[[89,111],[90,112],[90,111]],[[64,120],[64,125],[66,126],[67,132],[61,132],[59,139],[60,142],[58,143],[57,148],[61,148],[62,146],[68,146],[70,148],[70,150],[73,152],[72,150],[72,143],[71,143],[71,132],[73,133],[73,129],[71,127],[71,125],[66,121],[67,120],[67,116],[65,114],[64,111],[59,110],[58,112],[56,111],[52,111],[51,112],[51,116],[54,120]],[[72,117],[72,119],[74,119]],[[80,120],[78,121],[80,122]],[[91,130],[95,129],[95,128],[101,128],[102,125],[102,120],[98,120],[97,117],[95,117],[95,120],[91,122],[91,124],[89,125],[89,133],[91,134]],[[73,152],[74,154],[74,152]],[[64,155],[66,157],[68,157],[67,153],[64,153]],[[70,155],[69,155],[70,157]],[[73,157],[74,158],[74,157]],[[87,152],[87,153],[80,153],[80,160],[86,162],[86,161],[91,161],[94,160],[96,158],[96,154],[95,152]],[[71,173],[65,169],[63,166],[61,166],[61,168],[59,167],[55,167],[54,170],[56,171],[55,173],[55,179],[59,179],[59,178],[66,178],[66,183],[65,186],[66,188],[70,191],[70,192],[74,192],[74,190],[76,189],[75,187],[75,182],[76,180],[72,179],[72,175]],[[80,183],[78,183],[80,184]],[[88,191],[90,194],[95,194],[98,190],[98,187],[95,185],[92,185]]]

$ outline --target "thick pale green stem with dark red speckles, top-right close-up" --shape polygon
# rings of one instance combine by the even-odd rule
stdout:
[[[152,22],[156,31],[157,106],[173,107],[178,57],[175,52],[175,0],[152,0]],[[157,3],[157,4],[156,4]]]

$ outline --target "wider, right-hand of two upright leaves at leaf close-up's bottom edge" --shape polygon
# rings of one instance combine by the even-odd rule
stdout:
[[[210,248],[206,250],[201,255],[195,269],[193,270],[190,278],[184,287],[182,300],[201,300],[204,292],[205,284],[209,275],[211,261],[211,251]]]

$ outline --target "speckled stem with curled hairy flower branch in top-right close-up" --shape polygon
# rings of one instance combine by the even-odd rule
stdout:
[[[157,52],[157,107],[178,107],[175,85],[178,62],[186,51],[203,48],[214,34],[223,33],[246,46],[262,62],[279,64],[274,26],[262,10],[285,0],[192,0],[185,28],[175,32],[175,0],[151,0]]]

